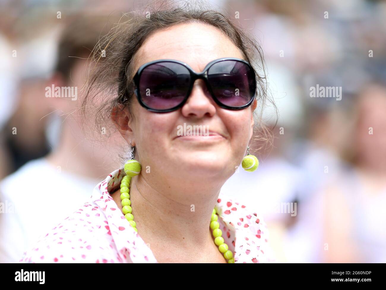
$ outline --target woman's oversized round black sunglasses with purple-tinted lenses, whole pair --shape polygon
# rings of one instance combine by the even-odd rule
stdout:
[[[201,73],[174,59],[151,61],[135,73],[134,92],[147,110],[171,112],[185,104],[197,79],[205,81],[213,100],[224,109],[244,109],[256,94],[255,72],[239,58],[215,59]]]

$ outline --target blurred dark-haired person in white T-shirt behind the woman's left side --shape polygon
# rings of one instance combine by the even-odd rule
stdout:
[[[53,131],[60,132],[59,140],[58,146],[50,154],[27,162],[0,183],[0,202],[7,207],[7,211],[0,215],[0,262],[18,262],[42,231],[76,210],[77,205],[90,197],[95,184],[111,168],[119,165],[115,158],[117,154],[114,154],[117,153],[114,151],[115,144],[90,143],[78,123],[78,104],[86,75],[87,58],[97,44],[98,37],[108,32],[108,26],[112,24],[111,21],[114,22],[112,18],[85,13],[69,17],[59,39],[54,73],[45,81],[45,85],[41,85],[40,81],[39,85],[34,86],[35,91],[29,92],[39,96],[39,102],[29,98],[25,100],[27,111],[33,112],[33,115],[39,114],[43,120],[47,119],[44,110],[51,110],[49,116],[53,118],[49,123],[58,124],[59,121],[60,126],[53,127]],[[24,83],[26,90],[28,84]],[[47,95],[52,86],[71,87],[74,95],[71,98],[63,95],[54,97],[54,91]],[[41,103],[42,106],[39,105]],[[20,120],[32,122],[28,118]],[[23,122],[20,122],[22,128]],[[18,132],[18,135],[23,134],[22,131]],[[34,138],[44,139],[34,134],[27,137],[31,142]],[[114,138],[116,143],[119,143],[119,137],[124,141],[119,135]]]

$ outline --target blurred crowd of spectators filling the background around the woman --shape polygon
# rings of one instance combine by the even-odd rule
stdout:
[[[274,139],[252,146],[258,170],[237,171],[223,191],[256,205],[279,262],[386,262],[386,1],[208,2],[256,36],[279,112],[276,123],[264,111]],[[120,166],[122,140],[88,142],[78,102],[45,88],[80,87],[98,36],[141,3],[0,1],[0,262]],[[311,97],[317,86],[340,98]]]

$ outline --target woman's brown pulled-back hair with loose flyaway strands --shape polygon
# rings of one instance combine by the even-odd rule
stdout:
[[[97,66],[90,70],[91,75],[86,83],[81,113],[84,117],[93,116],[95,119],[93,132],[100,132],[102,127],[106,127],[111,122],[110,115],[113,108],[128,109],[130,118],[135,118],[130,111],[131,102],[134,99],[132,97],[134,85],[128,76],[134,74],[136,53],[152,33],[177,24],[212,25],[229,37],[240,49],[244,59],[254,67],[257,78],[257,108],[262,111],[269,98],[261,47],[253,36],[239,28],[230,20],[230,17],[201,2],[186,2],[178,7],[169,1],[152,2],[139,13],[138,11],[128,12],[122,16],[122,18],[125,17],[129,19],[118,23],[98,42],[91,56],[91,64],[95,63]],[[101,93],[108,97],[103,99],[100,96]],[[102,104],[93,106],[93,100],[98,100],[98,103],[102,102]],[[270,101],[275,107],[273,101]],[[257,131],[262,134],[258,133],[254,140],[267,140],[266,136],[270,134],[266,127],[262,122],[259,122],[257,127],[259,128]],[[252,147],[251,151],[253,151]]]

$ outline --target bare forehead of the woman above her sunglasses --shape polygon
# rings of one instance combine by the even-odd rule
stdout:
[[[199,72],[212,60],[243,58],[241,51],[222,31],[205,24],[178,24],[156,31],[137,51],[135,69],[157,59],[183,61]]]

